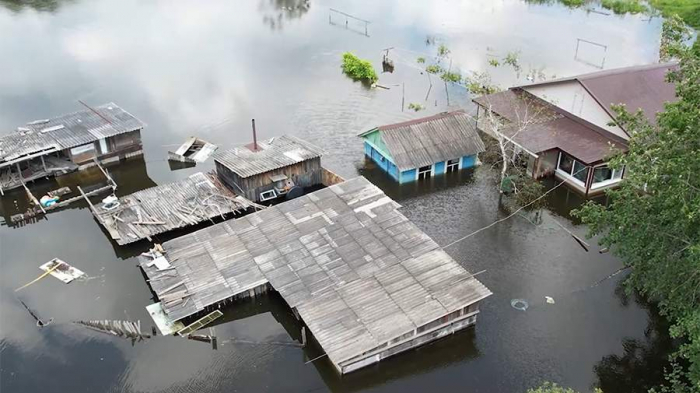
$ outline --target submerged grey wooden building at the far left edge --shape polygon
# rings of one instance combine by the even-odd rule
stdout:
[[[142,154],[144,124],[114,103],[36,120],[0,136],[0,193],[28,181],[58,176]]]

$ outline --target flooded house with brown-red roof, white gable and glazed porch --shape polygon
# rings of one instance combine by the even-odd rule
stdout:
[[[477,128],[493,132],[488,111],[511,127],[502,137],[524,153],[528,174],[553,175],[585,196],[619,185],[625,169],[609,168],[614,151],[626,151],[629,130],[615,123],[612,105],[642,110],[651,124],[666,102],[676,100],[666,81],[673,64],[625,67],[513,87],[474,99]]]

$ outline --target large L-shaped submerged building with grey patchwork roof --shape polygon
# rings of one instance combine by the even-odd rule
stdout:
[[[167,241],[140,261],[154,322],[275,290],[340,374],[474,325],[491,291],[399,207],[357,177]]]

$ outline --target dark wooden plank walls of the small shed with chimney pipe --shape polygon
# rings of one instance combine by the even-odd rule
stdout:
[[[241,178],[216,160],[214,163],[219,178],[233,192],[253,202],[260,202],[260,193],[274,188],[270,176],[286,175],[295,185],[300,187],[323,184],[323,168],[320,157],[247,178]]]

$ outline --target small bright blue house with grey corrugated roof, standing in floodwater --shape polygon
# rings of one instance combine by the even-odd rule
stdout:
[[[462,110],[379,126],[359,136],[365,141],[365,155],[399,183],[472,167],[484,151],[484,142]]]

